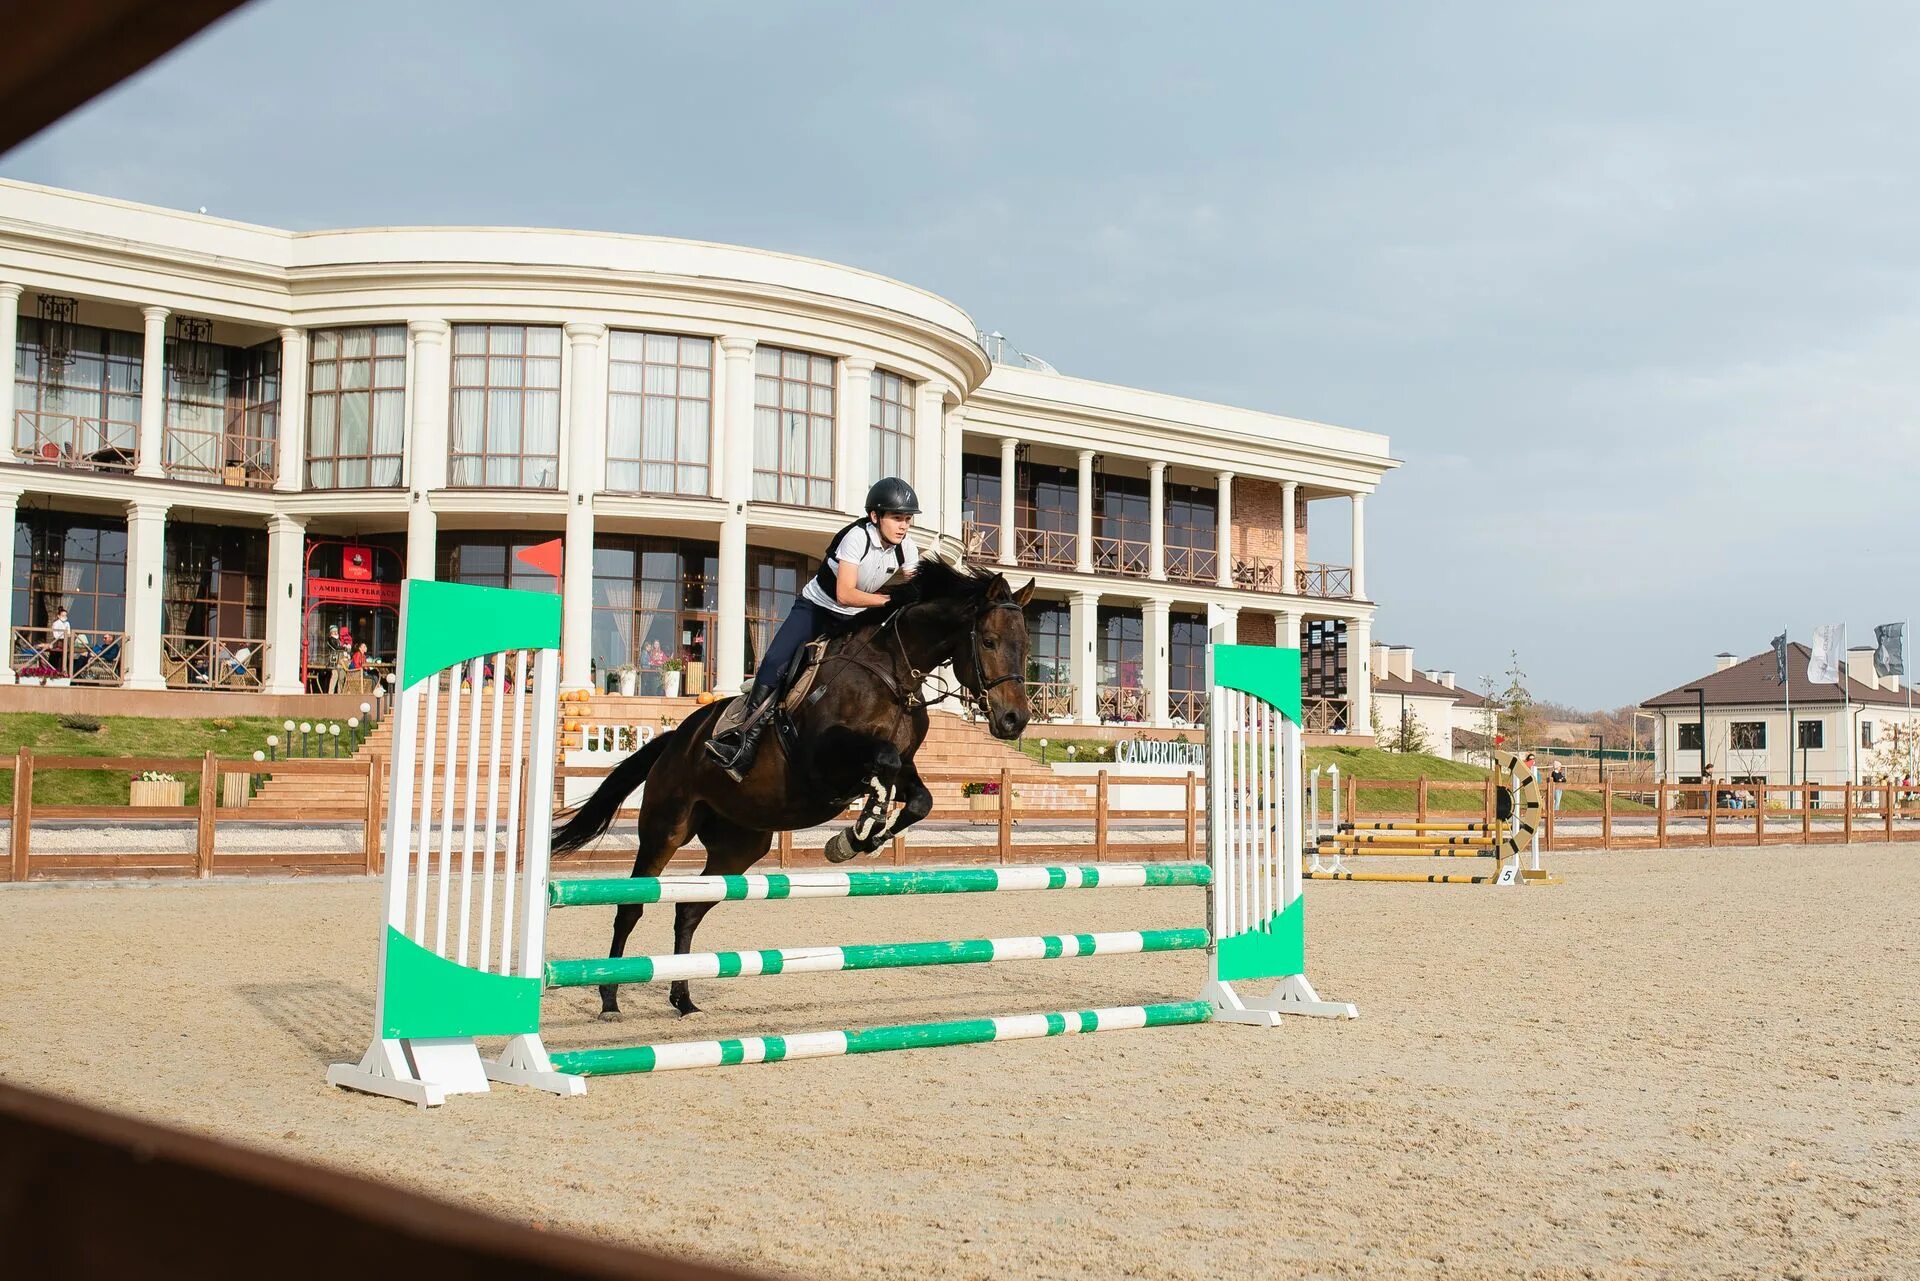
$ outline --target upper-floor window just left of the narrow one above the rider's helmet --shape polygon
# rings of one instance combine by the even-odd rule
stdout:
[[[753,497],[833,505],[833,357],[755,348]]]

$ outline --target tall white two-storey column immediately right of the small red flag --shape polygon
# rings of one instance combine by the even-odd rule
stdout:
[[[566,536],[561,542],[561,689],[593,688],[593,495],[607,484],[607,326],[566,326]]]

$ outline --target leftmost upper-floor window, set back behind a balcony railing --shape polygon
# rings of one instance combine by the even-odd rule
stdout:
[[[13,346],[13,455],[58,467],[132,471],[140,447],[140,334],[19,319]]]

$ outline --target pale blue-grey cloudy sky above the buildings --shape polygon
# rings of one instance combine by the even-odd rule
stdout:
[[[1384,432],[1375,636],[1611,707],[1914,607],[1916,67],[1893,2],[271,0],[0,175],[808,254]]]

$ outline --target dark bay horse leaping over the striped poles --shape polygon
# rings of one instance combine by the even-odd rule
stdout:
[[[708,703],[612,768],[591,797],[553,834],[553,853],[580,849],[612,826],[626,797],[639,801],[634,876],[659,876],[695,835],[710,876],[737,876],[766,857],[776,832],[824,824],[864,799],[854,824],[833,835],[828,858],[868,855],[933,810],[914,770],[927,736],[927,674],[950,666],[960,697],[985,705],[995,737],[1027,728],[1029,582],[1014,592],[1000,574],[970,574],[927,557],[893,603],[858,615],[828,647],[820,674],[793,716],[793,734],[768,734],[747,778],[733,782],[703,751],[726,701]],[[933,701],[939,701],[937,697]],[[895,810],[893,805],[900,809]],[[693,951],[693,931],[710,903],[674,905],[674,953]],[[639,905],[614,908],[609,956],[626,953]],[[668,1001],[697,1006],[687,983]],[[620,989],[601,987],[601,1018],[620,1016]]]

